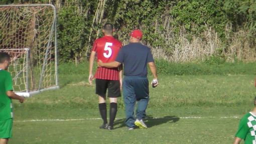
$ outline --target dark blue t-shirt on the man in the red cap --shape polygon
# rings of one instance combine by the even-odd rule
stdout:
[[[154,62],[154,59],[149,47],[141,43],[130,43],[119,50],[115,61],[123,63],[125,76],[147,76],[147,64]]]

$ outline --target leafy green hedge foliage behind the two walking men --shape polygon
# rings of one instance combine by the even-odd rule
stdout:
[[[234,45],[234,34],[254,49],[256,34],[255,0],[24,0],[24,3],[51,3],[58,9],[59,58],[61,61],[87,59],[93,40],[102,36],[101,29],[112,23],[115,37],[127,44],[129,33],[143,31],[143,42],[163,49],[171,56],[180,45],[181,37],[192,42],[196,37],[206,39],[205,31],[216,33],[222,49]],[[20,3],[4,0],[2,4]],[[205,48],[207,49],[207,48]],[[222,54],[221,54],[222,55]],[[235,56],[234,56],[235,57]]]

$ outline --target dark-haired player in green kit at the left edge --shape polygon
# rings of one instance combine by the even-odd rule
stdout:
[[[24,97],[13,92],[11,74],[6,71],[11,61],[10,55],[0,53],[0,144],[8,143],[13,134],[13,108],[12,99],[18,99],[21,103]]]

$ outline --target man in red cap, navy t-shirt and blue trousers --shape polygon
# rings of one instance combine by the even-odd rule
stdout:
[[[123,78],[123,101],[125,105],[125,124],[127,129],[134,129],[135,125],[140,128],[148,128],[144,123],[143,118],[146,116],[146,109],[149,103],[149,80],[148,80],[148,67],[153,74],[154,87],[158,85],[157,69],[155,62],[150,51],[150,48],[140,43],[142,40],[142,32],[134,30],[130,34],[130,43],[123,46],[115,61],[109,63],[102,63],[98,61],[98,67],[118,67],[123,63],[125,76]],[[136,117],[134,114],[136,101],[138,103],[136,110]]]

